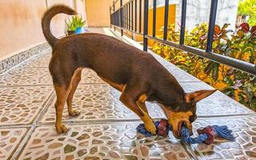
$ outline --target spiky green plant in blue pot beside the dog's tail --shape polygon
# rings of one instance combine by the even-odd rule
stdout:
[[[86,21],[82,21],[81,17],[73,16],[72,19],[68,18],[66,22],[67,34],[82,34],[85,30],[83,26],[86,24]]]

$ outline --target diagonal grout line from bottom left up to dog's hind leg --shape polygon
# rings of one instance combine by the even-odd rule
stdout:
[[[30,140],[31,135],[34,132],[34,129],[37,127],[37,123],[39,118],[42,117],[42,114],[44,114],[47,110],[47,108],[50,106],[50,103],[53,101],[54,98],[54,91],[51,91],[51,94],[48,98],[46,98],[46,102],[42,105],[42,110],[38,113],[38,116],[34,119],[34,122],[32,123],[32,126],[27,131],[26,136],[22,139],[22,142],[19,143],[18,148],[15,150],[14,154],[11,156],[10,159],[18,159],[20,154],[22,154],[22,150],[24,150],[24,147],[26,146],[26,143]]]

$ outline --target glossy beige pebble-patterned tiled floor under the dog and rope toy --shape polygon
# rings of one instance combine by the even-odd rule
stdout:
[[[91,31],[111,34],[102,28]],[[112,34],[113,36],[113,34]],[[211,89],[154,55],[178,79],[184,90]],[[256,114],[221,92],[198,103],[195,130],[210,124],[227,125],[235,142],[216,139],[213,145],[182,144],[169,137],[145,138],[136,133],[139,118],[118,101],[114,90],[92,70],[83,70],[74,95],[81,115],[70,118],[65,107],[67,134],[54,129],[55,94],[48,71],[50,53],[0,75],[0,159],[256,159]],[[165,118],[156,104],[150,115]]]

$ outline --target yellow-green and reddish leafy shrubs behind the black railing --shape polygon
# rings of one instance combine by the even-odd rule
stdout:
[[[256,63],[256,26],[242,23],[237,30],[227,30],[229,24],[215,26],[213,52],[246,62]],[[202,50],[206,49],[208,25],[202,23],[190,33],[186,31],[185,44]],[[161,38],[162,36],[158,36]],[[174,26],[168,27],[168,40],[179,41],[179,32]],[[207,82],[211,86],[222,90],[223,93],[236,99],[245,106],[256,110],[256,78],[229,66],[200,58],[194,54],[185,53],[162,43],[155,42],[153,50],[156,54],[166,58],[169,62],[186,70],[189,74]]]

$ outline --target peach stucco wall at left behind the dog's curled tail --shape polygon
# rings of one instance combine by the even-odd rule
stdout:
[[[56,3],[74,8],[75,0],[8,0],[0,1],[0,59],[17,54],[31,46],[46,42],[41,29],[41,18],[47,6]],[[81,1],[82,0],[76,0]],[[80,5],[80,2],[77,5]],[[85,10],[78,7],[85,17]],[[55,36],[65,34],[66,15],[58,15],[51,23]]]

